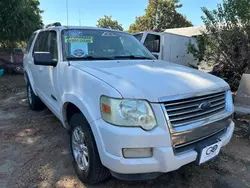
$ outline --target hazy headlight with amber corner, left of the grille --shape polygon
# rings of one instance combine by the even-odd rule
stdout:
[[[102,118],[117,126],[142,127],[152,130],[156,126],[154,113],[145,100],[101,97]]]

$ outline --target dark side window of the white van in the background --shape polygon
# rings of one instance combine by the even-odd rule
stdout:
[[[150,52],[158,53],[160,52],[160,39],[161,37],[159,35],[148,34],[144,41],[144,46],[146,46]]]

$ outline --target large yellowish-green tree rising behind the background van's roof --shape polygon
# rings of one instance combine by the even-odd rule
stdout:
[[[179,0],[149,0],[145,15],[136,17],[129,31],[131,33],[144,30],[163,31],[168,28],[192,26],[185,16],[176,11],[181,7]]]

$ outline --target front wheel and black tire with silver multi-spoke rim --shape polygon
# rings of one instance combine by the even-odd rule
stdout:
[[[75,114],[72,116],[72,118],[69,121],[69,124],[71,126],[71,131],[70,131],[70,150],[71,154],[73,157],[73,165],[76,170],[76,173],[79,177],[79,179],[83,183],[87,184],[96,184],[101,181],[104,181],[110,176],[109,170],[104,167],[101,163],[99,153],[97,150],[96,142],[93,136],[93,133],[91,131],[90,125],[84,118],[82,114]],[[83,139],[80,139],[82,141],[83,148],[87,148],[87,155],[86,161],[87,165],[79,165],[79,161],[77,162],[76,160],[76,150],[74,149],[76,145],[80,144],[75,144],[75,133],[80,132],[82,135]],[[79,134],[79,135],[80,135]],[[80,146],[77,147],[78,149],[81,148]],[[83,149],[84,150],[84,149]],[[85,153],[84,151],[81,151],[82,153]],[[79,153],[81,153],[79,152]],[[84,154],[82,154],[84,156]],[[80,157],[79,157],[80,158]],[[83,157],[81,157],[80,161],[84,161]],[[82,162],[83,164],[84,162]]]

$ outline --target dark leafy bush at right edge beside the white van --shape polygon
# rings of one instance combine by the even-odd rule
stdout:
[[[213,74],[237,89],[241,75],[250,72],[250,1],[224,0],[217,9],[202,8],[206,32],[188,51],[214,64]]]

